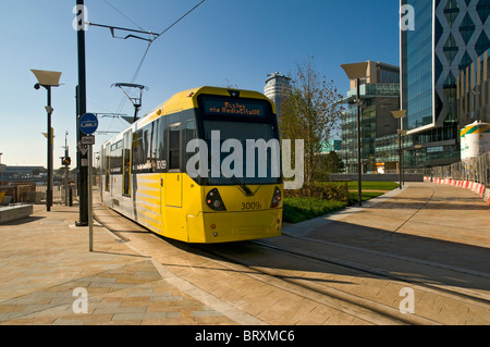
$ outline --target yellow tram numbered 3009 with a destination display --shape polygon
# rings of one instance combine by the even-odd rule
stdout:
[[[179,92],[101,148],[106,206],[162,236],[279,236],[283,181],[274,107],[262,94]]]

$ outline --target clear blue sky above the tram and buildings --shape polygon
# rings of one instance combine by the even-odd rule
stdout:
[[[200,0],[86,0],[93,23],[161,32]],[[345,94],[343,63],[367,60],[400,64],[396,0],[206,0],[152,45],[135,83],[149,87],[140,114],[173,94],[203,85],[237,85],[264,91],[268,73],[294,72],[314,57],[316,70]],[[111,7],[112,4],[112,7]],[[54,168],[64,154],[65,132],[75,158],[75,0],[4,1],[0,12],[0,152],[8,165],[46,166],[46,90],[35,90],[30,69],[60,71],[53,89]],[[121,13],[124,13],[127,20]],[[133,23],[134,22],[134,23]],[[105,28],[86,33],[87,109],[134,109],[113,83],[131,82],[147,44],[113,39]],[[99,129],[119,132],[127,123],[100,119]],[[95,150],[109,136],[98,135]]]

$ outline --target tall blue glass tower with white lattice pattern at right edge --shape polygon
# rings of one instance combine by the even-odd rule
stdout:
[[[490,47],[490,0],[401,0],[414,29],[401,28],[401,109],[411,135],[406,162],[460,160],[456,77]]]

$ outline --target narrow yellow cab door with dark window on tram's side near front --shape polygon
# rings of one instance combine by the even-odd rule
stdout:
[[[166,183],[166,203],[176,208],[182,208],[181,128],[179,114],[179,122],[169,124],[169,172]]]

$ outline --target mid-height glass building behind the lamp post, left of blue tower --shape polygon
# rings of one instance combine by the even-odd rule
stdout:
[[[399,168],[400,125],[392,111],[400,110],[400,69],[368,61],[366,78],[360,79],[360,158],[363,173],[396,172]],[[342,101],[347,104],[342,122],[342,149],[339,157],[346,173],[357,173],[356,82]]]

